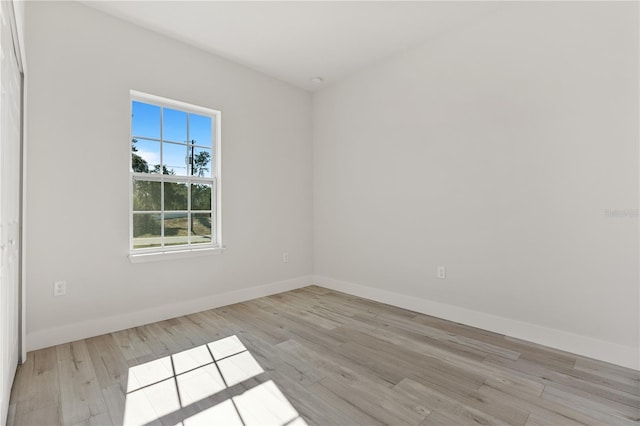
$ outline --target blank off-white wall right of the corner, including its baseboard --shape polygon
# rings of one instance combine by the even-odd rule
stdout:
[[[638,73],[637,3],[515,2],[316,93],[316,282],[639,368]]]

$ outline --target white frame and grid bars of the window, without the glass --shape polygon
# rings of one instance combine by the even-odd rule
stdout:
[[[163,98],[160,96],[150,95],[143,92],[138,92],[135,90],[131,90],[130,99],[129,99],[129,108],[133,107],[133,102],[144,102],[146,104],[151,104],[159,107],[167,107],[175,110],[180,110],[187,113],[194,113],[198,115],[209,116],[212,118],[212,123],[214,124],[215,134],[212,132],[214,140],[212,141],[212,154],[213,154],[213,167],[211,172],[211,177],[199,177],[199,176],[176,176],[176,175],[165,175],[162,173],[139,173],[134,172],[131,168],[131,149],[129,149],[128,155],[128,167],[129,167],[129,260],[132,263],[138,262],[147,262],[147,261],[155,261],[161,259],[169,259],[169,258],[184,258],[191,257],[196,255],[205,255],[205,254],[214,254],[219,253],[224,249],[222,246],[222,129],[221,129],[221,121],[222,114],[220,111],[204,108],[196,105],[191,105],[185,102],[176,101],[169,98]],[[130,115],[131,117],[132,115]],[[160,121],[160,139],[157,141],[160,142],[160,152],[162,153],[163,146],[163,138],[162,138],[162,115]],[[131,145],[131,140],[135,136],[133,135],[133,122],[129,122],[129,146]],[[140,136],[141,137],[141,136]],[[150,138],[144,138],[150,139]],[[156,140],[151,138],[150,140]],[[162,154],[161,154],[161,172],[162,172]],[[188,245],[179,245],[179,246],[164,246],[164,226],[162,226],[161,238],[163,245],[161,247],[150,247],[150,248],[133,248],[133,180],[134,178],[140,178],[146,181],[156,181],[161,182],[161,199],[163,200],[162,209],[159,212],[150,212],[150,213],[159,213],[161,215],[161,223],[164,223],[164,182],[186,182],[188,189],[188,206],[187,212],[191,213],[191,192],[190,185],[191,183],[210,183],[212,186],[212,194],[211,194],[211,220],[212,220],[212,233],[214,234],[212,237],[212,241],[209,244],[206,243],[198,243]],[[188,214],[189,220],[190,214]]]

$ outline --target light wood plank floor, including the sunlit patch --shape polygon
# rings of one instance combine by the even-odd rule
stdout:
[[[125,420],[639,425],[640,375],[316,286],[38,350],[18,370],[9,425]]]

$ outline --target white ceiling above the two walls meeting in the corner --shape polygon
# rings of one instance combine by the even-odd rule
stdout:
[[[83,3],[307,90],[497,7],[477,1]],[[316,76],[324,83],[311,83]]]

